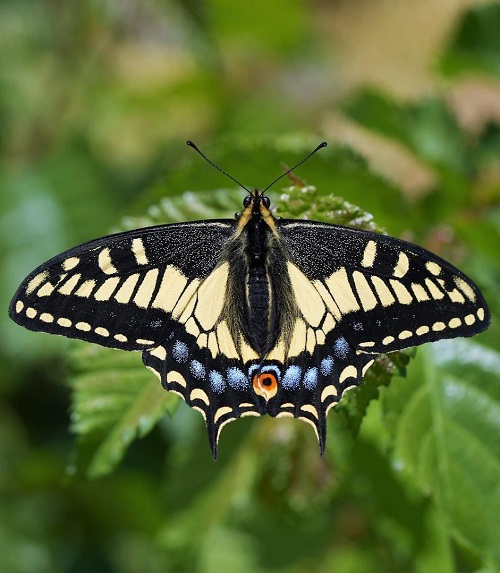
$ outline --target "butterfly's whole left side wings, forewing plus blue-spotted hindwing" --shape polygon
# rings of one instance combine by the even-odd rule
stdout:
[[[252,352],[235,346],[221,318],[233,233],[234,221],[200,221],[85,243],[31,273],[10,316],[31,330],[142,350],[162,385],[203,415],[216,457],[226,423],[265,412],[244,370]]]

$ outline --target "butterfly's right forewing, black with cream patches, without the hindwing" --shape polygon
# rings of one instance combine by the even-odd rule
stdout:
[[[473,336],[489,325],[477,286],[422,247],[314,221],[278,225],[291,261],[319,291],[338,332],[360,351]]]

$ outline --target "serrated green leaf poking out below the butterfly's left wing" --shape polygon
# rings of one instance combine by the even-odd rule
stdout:
[[[172,414],[179,403],[144,368],[138,353],[77,343],[70,369],[71,426],[82,444],[92,444],[85,464],[89,477],[111,471],[128,446],[145,436],[165,413]]]

